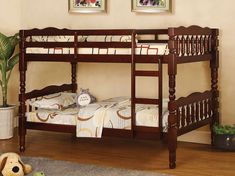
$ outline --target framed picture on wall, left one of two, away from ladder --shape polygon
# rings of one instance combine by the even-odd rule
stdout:
[[[98,13],[106,11],[106,0],[69,0],[69,12]]]

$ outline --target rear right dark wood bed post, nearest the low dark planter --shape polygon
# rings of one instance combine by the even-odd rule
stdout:
[[[212,92],[212,121],[211,128],[211,145],[214,144],[213,139],[213,125],[219,123],[219,91],[218,91],[218,68],[219,68],[219,30],[212,29],[212,60],[210,61],[211,67],[211,92]]]

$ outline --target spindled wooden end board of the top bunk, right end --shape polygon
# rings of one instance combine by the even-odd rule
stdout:
[[[214,33],[218,30],[199,26],[169,28],[170,53],[175,54],[177,64],[212,60]]]

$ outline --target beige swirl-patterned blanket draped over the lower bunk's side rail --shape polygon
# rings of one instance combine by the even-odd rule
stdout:
[[[159,126],[157,105],[138,104],[135,112],[137,126]],[[163,107],[163,115],[166,112],[167,108]],[[167,118],[163,118],[163,124],[166,123]],[[80,109],[77,118],[77,137],[100,138],[103,127],[131,129],[131,101],[129,98],[113,98]]]

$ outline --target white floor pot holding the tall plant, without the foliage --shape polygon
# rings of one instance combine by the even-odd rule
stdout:
[[[15,107],[0,107],[0,139],[10,139],[13,137]]]

